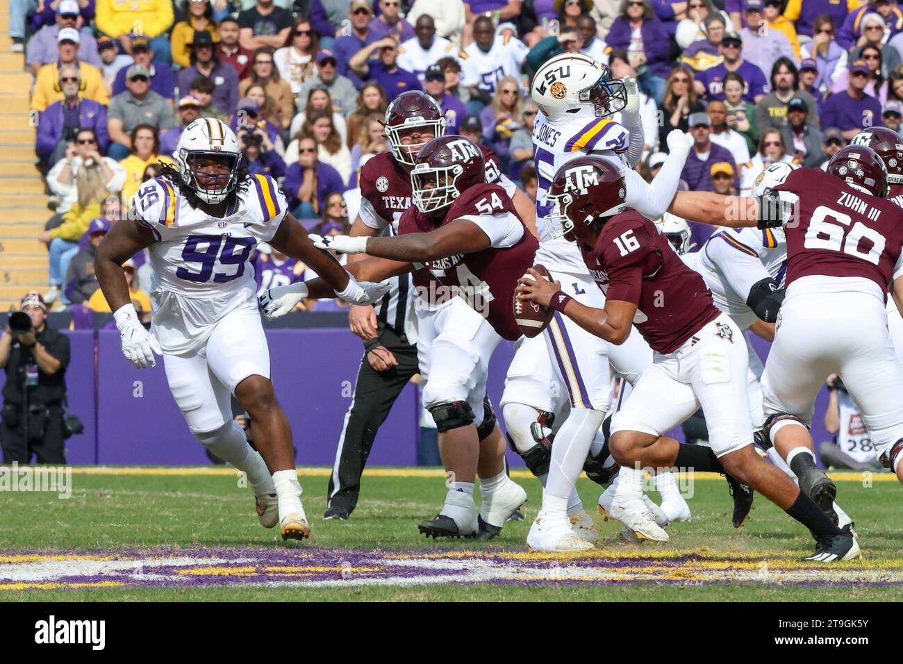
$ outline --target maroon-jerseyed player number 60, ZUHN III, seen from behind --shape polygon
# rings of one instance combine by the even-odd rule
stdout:
[[[887,192],[880,156],[848,145],[825,172],[798,169],[760,197],[679,193],[673,204],[703,223],[785,227],[787,297],[762,377],[766,428],[829,514],[836,488],[815,468],[808,423],[830,373],[842,377],[876,455],[903,482],[903,369],[885,308],[890,292],[903,311],[903,213]]]

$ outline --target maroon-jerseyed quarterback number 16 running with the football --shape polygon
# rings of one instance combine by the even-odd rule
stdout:
[[[612,418],[609,444],[615,461],[726,472],[809,528],[817,546],[807,559],[859,556],[849,528],[837,528],[787,475],[755,453],[746,388],[749,357],[740,329],[715,308],[703,277],[684,265],[655,224],[626,209],[618,171],[597,157],[574,159],[555,173],[549,195],[557,201],[565,232],[576,238],[591,275],[606,290],[605,308],[574,301],[557,282],[535,278],[535,271],[533,278],[520,280],[520,297],[551,306],[615,344],[636,325],[656,351]],[[711,448],[682,445],[664,435],[700,406]],[[641,482],[624,482],[613,501],[639,509],[641,494]]]

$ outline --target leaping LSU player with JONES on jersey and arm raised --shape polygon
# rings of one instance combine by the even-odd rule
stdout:
[[[632,170],[645,142],[636,81],[614,79],[607,66],[580,53],[547,61],[536,72],[531,95],[540,109],[533,132],[540,238],[536,262],[561,281],[569,295],[589,306],[604,306],[604,295],[595,287],[576,244],[562,237],[561,222],[547,198],[554,173],[575,157],[606,157],[624,174],[631,207],[656,219],[674,197],[688,152],[686,142],[669,139],[674,149],[655,182],[645,182]],[[544,341],[538,339],[522,341],[518,347],[501,401],[511,446],[545,486],[543,509],[527,542],[539,551],[584,550],[591,548],[595,532],[573,487],[588,453],[600,454],[604,447],[600,426],[609,410],[609,362],[632,381],[652,361],[652,351],[638,334],[612,348],[558,314],[543,332]],[[537,442],[536,437],[541,438],[533,431],[537,418],[563,415],[568,401],[570,412],[555,444],[550,448]],[[617,470],[611,471],[612,477]],[[666,538],[659,527],[666,523],[664,514],[652,510],[647,500],[612,512],[630,528],[645,530],[647,537]]]

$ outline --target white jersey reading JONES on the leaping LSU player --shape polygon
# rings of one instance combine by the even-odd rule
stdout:
[[[620,154],[628,148],[630,133],[611,117],[586,117],[585,115],[566,123],[551,123],[542,111],[536,113],[533,126],[533,151],[536,168],[536,229],[539,231],[539,251],[536,262],[551,269],[558,267],[567,272],[582,274],[586,265],[576,243],[564,238],[554,238],[553,233],[561,221],[554,216],[554,204],[548,201],[549,187],[554,174],[563,164],[575,157],[586,154],[608,156],[616,160],[623,172],[634,173]],[[628,197],[635,191],[628,186]],[[629,205],[628,198],[628,205]],[[631,206],[634,207],[634,206]],[[549,215],[553,216],[550,218]]]

